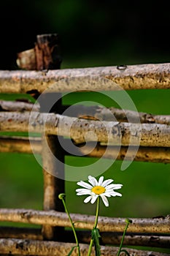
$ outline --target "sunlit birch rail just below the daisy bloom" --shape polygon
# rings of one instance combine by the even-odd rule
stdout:
[[[93,228],[95,217],[85,214],[71,214],[76,228]],[[170,218],[131,218],[128,232],[132,233],[170,233]],[[36,225],[71,227],[66,213],[59,211],[36,211],[28,209],[0,209],[1,222],[21,222]],[[98,228],[101,232],[123,232],[125,218],[98,217]]]

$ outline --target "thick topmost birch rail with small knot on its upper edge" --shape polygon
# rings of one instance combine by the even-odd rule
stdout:
[[[0,93],[36,91],[41,94],[47,88],[53,92],[169,89],[170,64],[129,65],[125,69],[92,67],[47,72],[0,71]]]

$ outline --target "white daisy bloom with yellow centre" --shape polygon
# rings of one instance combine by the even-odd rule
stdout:
[[[93,176],[88,176],[88,182],[79,181],[77,185],[83,187],[82,189],[76,189],[77,195],[89,195],[85,198],[84,203],[95,203],[97,197],[101,197],[105,206],[109,206],[107,197],[121,197],[122,195],[115,192],[114,189],[121,189],[122,184],[111,184],[112,179],[109,178],[104,181],[104,176],[101,176],[98,181]]]

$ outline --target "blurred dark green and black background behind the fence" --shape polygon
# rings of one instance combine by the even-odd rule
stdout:
[[[36,34],[45,33],[59,34],[61,69],[169,62],[169,8],[163,1],[3,1],[0,24],[0,69],[17,69],[17,53],[33,48]],[[128,94],[139,111],[169,114],[169,90]],[[14,98],[0,94],[0,99]],[[82,94],[82,99],[89,100],[90,94]],[[64,103],[74,100],[72,96]],[[66,163],[78,166],[93,160],[66,157]],[[109,208],[101,205],[101,215],[169,214],[169,165],[133,162],[125,171],[120,171],[120,165],[115,162],[104,177],[123,184],[123,197],[110,198]],[[66,182],[70,211],[94,214],[94,206],[75,195],[76,187],[75,182]],[[42,209],[42,190],[42,168],[34,156],[0,154],[0,207]]]

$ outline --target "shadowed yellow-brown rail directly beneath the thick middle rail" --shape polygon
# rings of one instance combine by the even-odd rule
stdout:
[[[30,145],[31,142],[31,145]],[[65,140],[66,145],[66,140]],[[8,137],[0,136],[0,152],[18,152],[27,154],[41,154],[42,153],[42,139],[41,138],[26,138],[26,137]],[[126,155],[128,150],[128,155]],[[164,162],[170,163],[170,148],[163,147],[139,147],[136,152],[136,148],[122,146],[101,146],[97,145],[93,148],[93,145],[88,143],[86,146],[77,145],[77,150],[74,150],[72,154],[75,156],[83,154],[84,157],[104,157],[107,159],[123,160],[126,157],[127,160],[140,161],[140,162]],[[118,154],[117,154],[118,152]],[[69,154],[65,152],[65,154]]]

